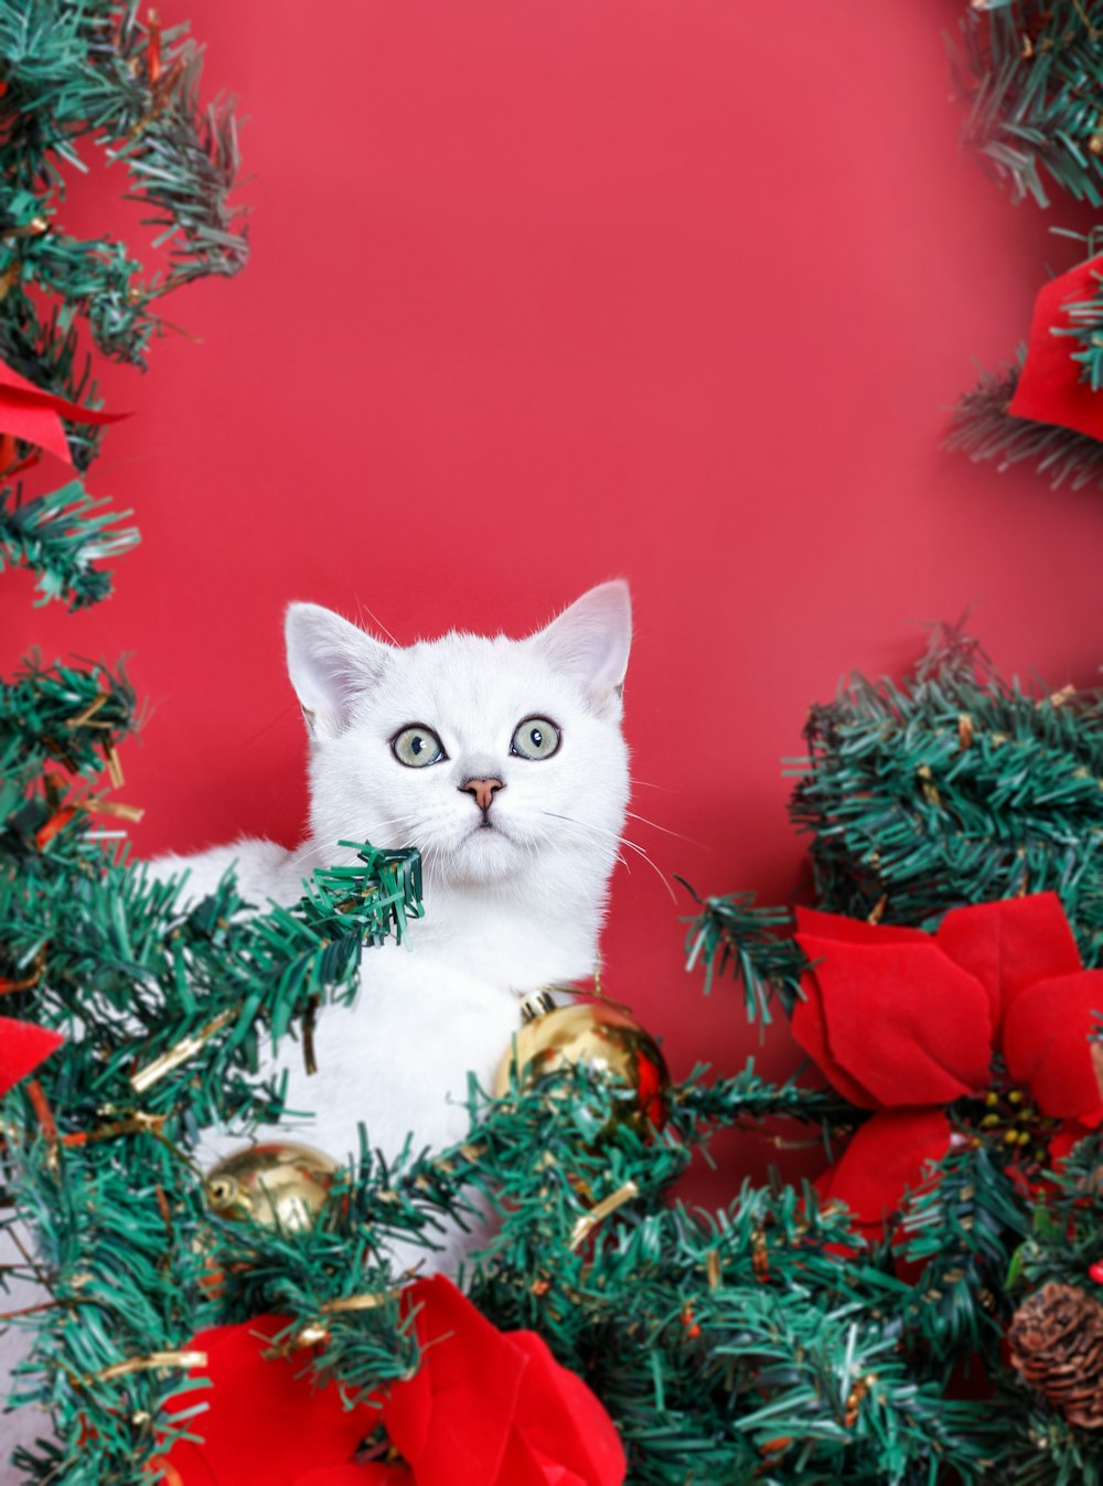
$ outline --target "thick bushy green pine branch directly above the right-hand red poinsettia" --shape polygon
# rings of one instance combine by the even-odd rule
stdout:
[[[816,899],[932,927],[959,903],[1052,889],[1099,964],[1103,692],[974,676],[960,643],[944,627],[904,685],[855,676],[812,709],[789,810],[812,837]]]

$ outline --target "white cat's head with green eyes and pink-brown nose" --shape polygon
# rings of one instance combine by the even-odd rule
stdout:
[[[416,846],[430,883],[574,878],[599,892],[629,796],[630,637],[624,583],[522,640],[450,633],[406,648],[293,603],[287,666],[311,734],[314,841]]]

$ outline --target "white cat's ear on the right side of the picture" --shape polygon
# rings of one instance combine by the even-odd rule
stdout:
[[[556,670],[574,676],[599,716],[620,716],[632,646],[632,600],[623,580],[575,599],[532,643]]]

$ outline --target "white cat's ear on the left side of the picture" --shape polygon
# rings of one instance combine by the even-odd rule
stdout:
[[[320,603],[291,603],[284,620],[287,673],[312,739],[337,737],[355,698],[382,676],[391,646]]]

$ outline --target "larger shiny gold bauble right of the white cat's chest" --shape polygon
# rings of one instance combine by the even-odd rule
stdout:
[[[629,1125],[644,1138],[662,1128],[670,1074],[651,1033],[601,1002],[554,1006],[543,994],[528,999],[522,1015],[525,1025],[498,1065],[495,1097],[510,1092],[513,1077],[529,1088],[559,1068],[586,1067],[618,1091],[612,1128]]]

